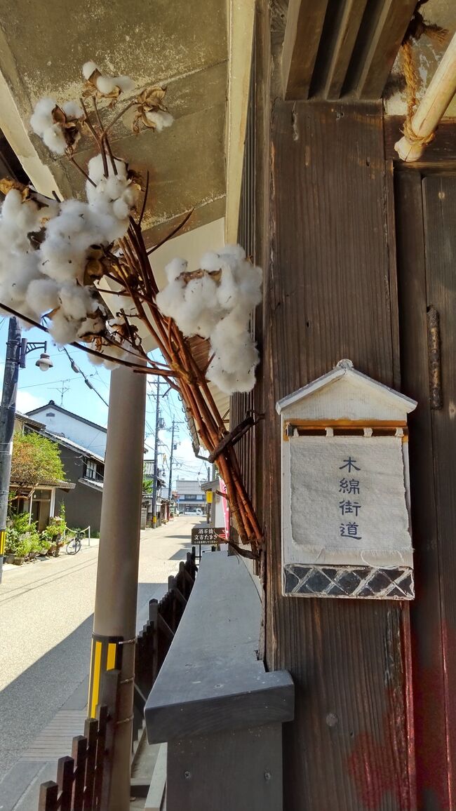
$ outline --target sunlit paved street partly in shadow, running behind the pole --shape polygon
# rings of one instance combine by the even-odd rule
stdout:
[[[141,533],[139,616],[190,548],[200,517]],[[97,542],[22,567],[0,586],[0,781],[88,674]],[[157,596],[157,594],[155,594]]]

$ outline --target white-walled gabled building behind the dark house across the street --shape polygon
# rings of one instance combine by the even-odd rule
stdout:
[[[28,417],[39,420],[51,434],[65,437],[105,458],[107,431],[101,425],[67,411],[62,405],[56,405],[54,400],[28,411]]]

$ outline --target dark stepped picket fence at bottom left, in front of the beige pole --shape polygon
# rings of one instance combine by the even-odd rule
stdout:
[[[86,719],[84,735],[73,738],[71,757],[59,758],[57,782],[41,783],[38,811],[102,811],[107,807],[119,678],[118,670],[103,676],[97,719]]]

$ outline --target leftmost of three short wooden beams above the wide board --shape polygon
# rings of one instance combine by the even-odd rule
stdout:
[[[328,0],[290,0],[282,50],[286,99],[307,99]]]

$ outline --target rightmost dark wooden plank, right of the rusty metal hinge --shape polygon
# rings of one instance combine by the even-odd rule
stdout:
[[[456,789],[456,176],[424,178],[424,246],[428,306],[440,315],[443,407],[431,411],[441,594],[446,744],[450,799]],[[436,587],[437,583],[435,584]],[[453,804],[452,804],[453,805]]]

